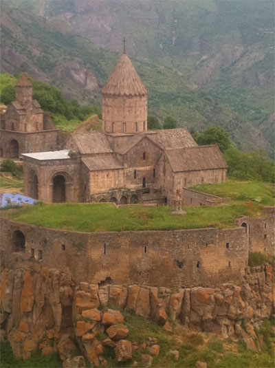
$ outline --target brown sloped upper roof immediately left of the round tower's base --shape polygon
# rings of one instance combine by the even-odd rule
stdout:
[[[109,141],[101,131],[73,133],[72,139],[83,155],[91,153],[112,153]]]

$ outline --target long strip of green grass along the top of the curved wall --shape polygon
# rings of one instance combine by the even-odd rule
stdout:
[[[192,228],[231,228],[241,216],[261,215],[259,204],[230,202],[228,206],[189,207],[187,215],[174,216],[167,206],[129,206],[111,204],[39,204],[22,208],[6,217],[25,224],[81,232],[177,230]]]

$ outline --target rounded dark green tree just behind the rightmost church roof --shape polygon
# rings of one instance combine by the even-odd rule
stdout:
[[[219,125],[204,129],[204,131],[197,135],[196,142],[199,145],[219,144],[221,152],[226,151],[231,146],[229,133],[222,127],[219,127]]]

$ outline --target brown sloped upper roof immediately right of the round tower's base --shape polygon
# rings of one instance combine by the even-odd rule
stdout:
[[[186,128],[147,131],[145,134],[162,149],[197,146]]]

